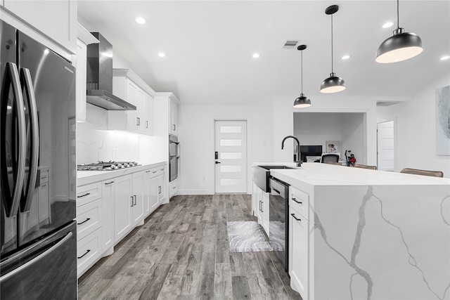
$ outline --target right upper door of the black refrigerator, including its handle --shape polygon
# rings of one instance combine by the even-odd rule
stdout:
[[[26,247],[75,219],[75,67],[22,32],[18,45],[27,138],[18,246]]]

